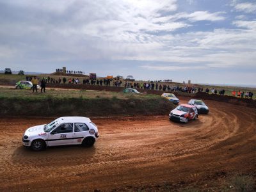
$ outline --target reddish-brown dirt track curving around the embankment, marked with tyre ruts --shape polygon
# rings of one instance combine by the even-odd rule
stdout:
[[[52,118],[1,118],[0,191],[123,191],[164,182],[211,188],[219,177],[255,172],[256,109],[206,103],[209,115],[188,124],[168,116],[94,119],[100,139],[93,148],[43,152],[22,147],[22,134]]]

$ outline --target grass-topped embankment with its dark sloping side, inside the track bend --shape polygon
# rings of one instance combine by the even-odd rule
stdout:
[[[173,104],[159,95],[131,95],[85,90],[31,90],[0,88],[0,115],[131,116],[167,115]]]

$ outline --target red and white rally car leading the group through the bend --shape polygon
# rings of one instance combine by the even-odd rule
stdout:
[[[181,104],[170,112],[169,118],[170,120],[188,123],[189,120],[198,118],[198,112],[195,106]]]

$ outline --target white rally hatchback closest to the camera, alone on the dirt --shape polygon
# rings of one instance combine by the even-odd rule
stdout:
[[[27,129],[22,143],[33,150],[43,150],[55,145],[92,146],[99,137],[98,128],[90,118],[83,116],[64,116],[45,125]]]

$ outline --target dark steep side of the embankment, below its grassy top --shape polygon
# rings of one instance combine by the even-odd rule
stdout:
[[[161,97],[156,99],[1,98],[0,115],[10,116],[133,116],[165,115],[174,108]]]

